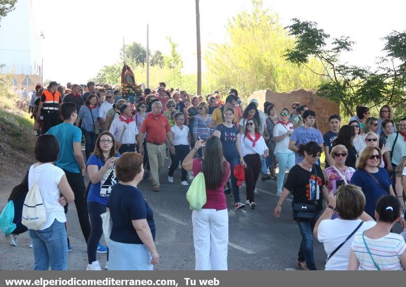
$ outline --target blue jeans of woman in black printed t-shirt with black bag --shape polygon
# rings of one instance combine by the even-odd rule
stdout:
[[[301,234],[301,243],[297,261],[306,261],[309,270],[317,270],[313,254],[313,229],[320,217],[321,211],[316,212],[316,216],[311,221],[296,221]]]

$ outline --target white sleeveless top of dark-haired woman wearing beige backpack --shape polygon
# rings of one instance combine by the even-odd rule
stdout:
[[[60,179],[65,174],[62,169],[52,165],[51,163],[43,163],[42,165],[34,168],[32,165],[28,172],[28,190],[38,182],[40,187],[42,201],[44,202],[47,220],[40,230],[44,230],[52,225],[56,219],[59,222],[66,222],[65,212],[63,206],[59,201],[59,187]]]

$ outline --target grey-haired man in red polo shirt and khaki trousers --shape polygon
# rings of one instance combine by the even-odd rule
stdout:
[[[175,153],[173,145],[171,126],[165,116],[162,115],[162,104],[154,102],[152,112],[144,119],[141,126],[139,140],[139,152],[144,153],[144,134],[147,133],[147,151],[150,166],[150,179],[152,190],[159,191],[159,172],[163,167],[166,158],[166,137],[171,144],[171,153]]]

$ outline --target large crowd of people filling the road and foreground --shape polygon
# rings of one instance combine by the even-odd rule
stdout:
[[[314,238],[324,244],[326,270],[403,270],[406,234],[392,233],[392,227],[396,222],[406,227],[406,117],[396,126],[389,105],[378,118],[359,105],[348,124],[330,115],[323,135],[307,105],[294,102],[280,111],[275,103],[265,102],[263,111],[258,106],[252,99],[244,108],[235,89],[223,102],[218,91],[204,100],[166,89],[165,83],[146,88],[139,99],[123,98],[119,87],[92,81],[85,87],[37,85],[29,112],[39,136],[38,162],[10,195],[16,229],[6,234],[9,243],[18,245],[18,234],[26,231],[18,224],[21,207],[38,183],[47,221],[40,230],[29,230],[35,270],[67,268],[68,202],[76,205],[87,243],[87,270],[101,270],[97,252],[107,253],[109,270],[152,270],[159,262],[153,211],[138,184],[149,180],[158,192],[160,171],[170,158],[168,183],[175,184],[178,168],[182,186],[200,172],[205,177],[207,202],[192,213],[196,270],[227,269],[226,196],[233,196],[235,210],[254,211],[260,204],[255,200],[260,175],[263,181],[276,180],[276,218],[293,195],[302,270],[317,269]],[[240,198],[242,181],[245,199]],[[99,243],[100,215],[108,210],[112,232],[106,248]]]

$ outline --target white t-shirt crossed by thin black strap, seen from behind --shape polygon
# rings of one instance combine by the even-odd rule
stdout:
[[[317,238],[324,244],[324,250],[327,253],[327,258],[330,254],[346,240],[355,228],[361,223],[357,220],[344,219],[326,219],[323,220],[318,229]],[[362,232],[366,229],[374,227],[377,224],[375,221],[366,221],[357,230]],[[347,270],[348,260],[350,258],[351,243],[355,235],[349,238],[347,242],[328,260],[325,270]]]

